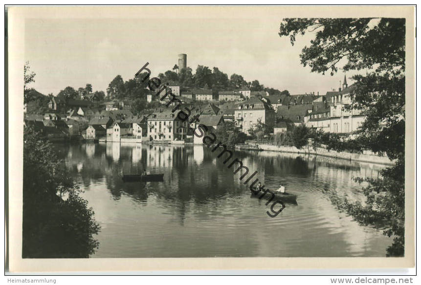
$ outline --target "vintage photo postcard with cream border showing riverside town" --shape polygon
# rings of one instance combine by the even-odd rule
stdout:
[[[10,272],[415,266],[414,6],[7,10]]]

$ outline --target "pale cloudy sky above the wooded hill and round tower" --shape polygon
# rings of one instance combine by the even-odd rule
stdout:
[[[116,75],[133,78],[147,62],[155,76],[172,69],[179,53],[187,54],[187,66],[193,71],[198,65],[216,66],[228,77],[237,73],[246,81],[257,79],[291,94],[322,95],[343,81],[342,70],[334,76],[322,75],[300,64],[299,54],[314,34],[297,36],[292,46],[288,37],[278,35],[286,16],[282,13],[156,15],[27,19],[25,60],[36,73],[31,87],[56,95],[67,86],[77,89],[89,83],[94,91],[106,92]],[[352,75],[346,74],[348,85]]]

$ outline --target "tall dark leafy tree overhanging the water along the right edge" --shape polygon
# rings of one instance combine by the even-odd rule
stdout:
[[[352,109],[366,114],[355,139],[340,141],[332,136],[333,149],[386,153],[396,159],[378,179],[366,181],[366,204],[347,200],[337,203],[361,224],[389,220],[384,234],[394,236],[388,256],[404,254],[404,147],[405,147],[405,19],[284,19],[279,35],[294,44],[298,34],[315,32],[310,46],[300,54],[301,64],[312,72],[335,74],[366,69],[353,76]]]

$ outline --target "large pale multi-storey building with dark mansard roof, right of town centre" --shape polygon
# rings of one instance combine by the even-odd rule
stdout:
[[[234,116],[236,126],[242,132],[247,132],[259,121],[269,126],[275,124],[275,111],[272,107],[262,99],[253,96],[237,104]]]

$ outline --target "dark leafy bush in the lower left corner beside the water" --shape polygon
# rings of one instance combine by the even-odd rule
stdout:
[[[31,128],[23,142],[22,258],[88,258],[100,230],[88,201],[51,143]]]

